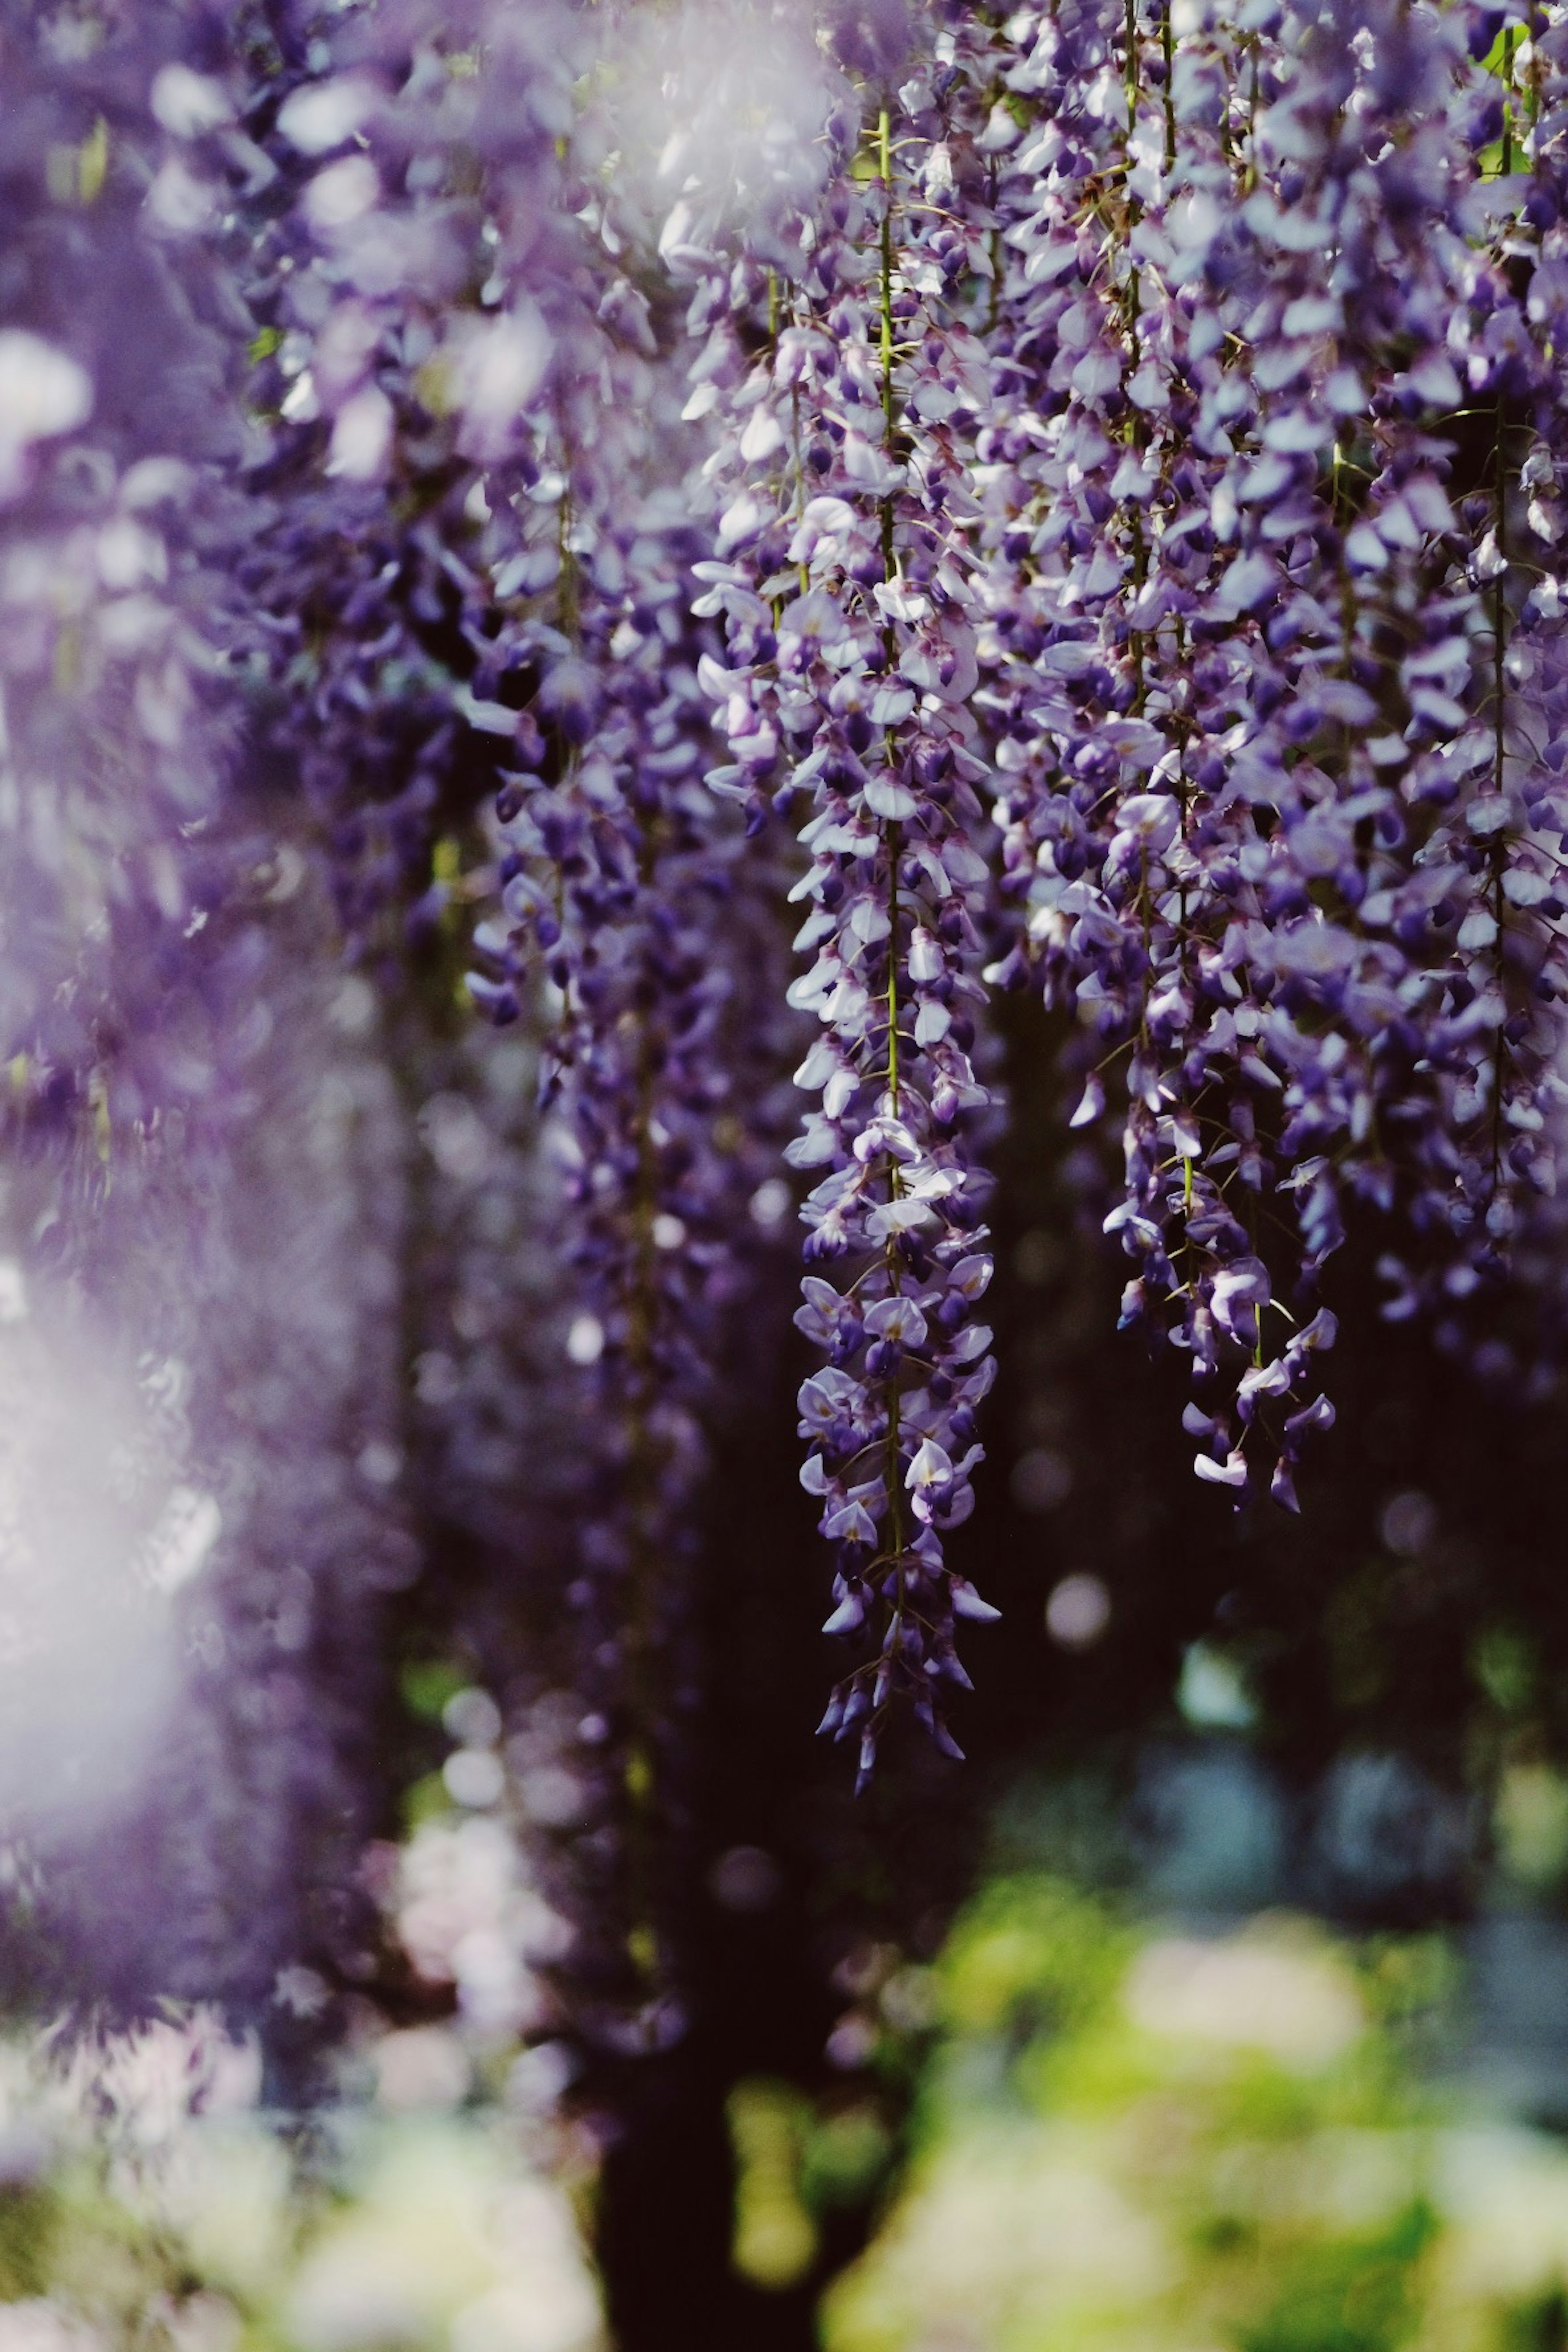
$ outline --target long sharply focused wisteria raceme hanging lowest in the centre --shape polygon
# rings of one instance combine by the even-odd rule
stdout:
[[[954,1752],[954,1623],[994,1616],[943,1557],[973,1510],[994,1376],[969,1143],[992,1096],[971,1058],[987,868],[966,708],[985,362],[950,299],[987,266],[950,162],[973,103],[964,38],[943,33],[898,108],[844,141],[788,280],[743,254],[696,299],[698,383],[726,407],[703,609],[724,612],[729,659],[703,677],[731,760],[710,783],[755,818],[811,790],[792,896],[813,962],[790,1002],[820,1023],[797,1070],[820,1108],[785,1157],[813,1178],[797,1322],[827,1364],[799,1392],[799,1432],[837,1548],[827,1630],[875,1635],[823,1729],[858,1736],[860,1776],[893,1703]],[[750,362],[745,334],[762,341]]]

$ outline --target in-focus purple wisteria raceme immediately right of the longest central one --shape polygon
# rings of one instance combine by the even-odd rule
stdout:
[[[1241,934],[1213,858],[1225,767],[1194,708],[1199,633],[1225,612],[1213,515],[1241,402],[1211,360],[1225,336],[1190,247],[1227,219],[1234,56],[1213,26],[1178,56],[1168,19],[1147,38],[1112,9],[1041,19],[1020,47],[1011,80],[1039,113],[999,191],[1016,259],[983,442],[983,699],[1004,729],[1006,887],[1030,922],[994,978],[1039,964],[1046,990],[1093,1021],[1105,1065],[1126,1056],[1126,1197],[1107,1218],[1138,1261],[1124,1322],[1168,1329],[1199,1376],[1251,1355],[1237,1397],[1251,1423],[1281,1411],[1267,1399],[1291,1397],[1333,1319],[1265,1352],[1272,1279],[1255,1211],[1239,1211],[1265,1181],[1265,1065],[1255,1028],[1227,1018],[1222,957]],[[1204,412],[1194,395],[1211,379]],[[1077,1120],[1103,1103],[1095,1070]],[[1213,1446],[1199,1472],[1241,1486],[1227,1416],[1190,1418]],[[1302,1423],[1288,1406],[1284,1418],[1288,1498]]]

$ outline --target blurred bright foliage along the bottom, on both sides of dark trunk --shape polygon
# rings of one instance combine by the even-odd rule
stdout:
[[[1528,1959],[997,1867],[931,1964],[865,1959],[858,2089],[731,2091],[733,2270],[785,2296],[870,2204],[823,2352],[1556,2352],[1568,2147],[1488,2011]],[[538,2049],[458,2011],[367,2030],[306,2133],[259,2091],[200,2011],[5,2046],[0,2352],[604,2352]]]

